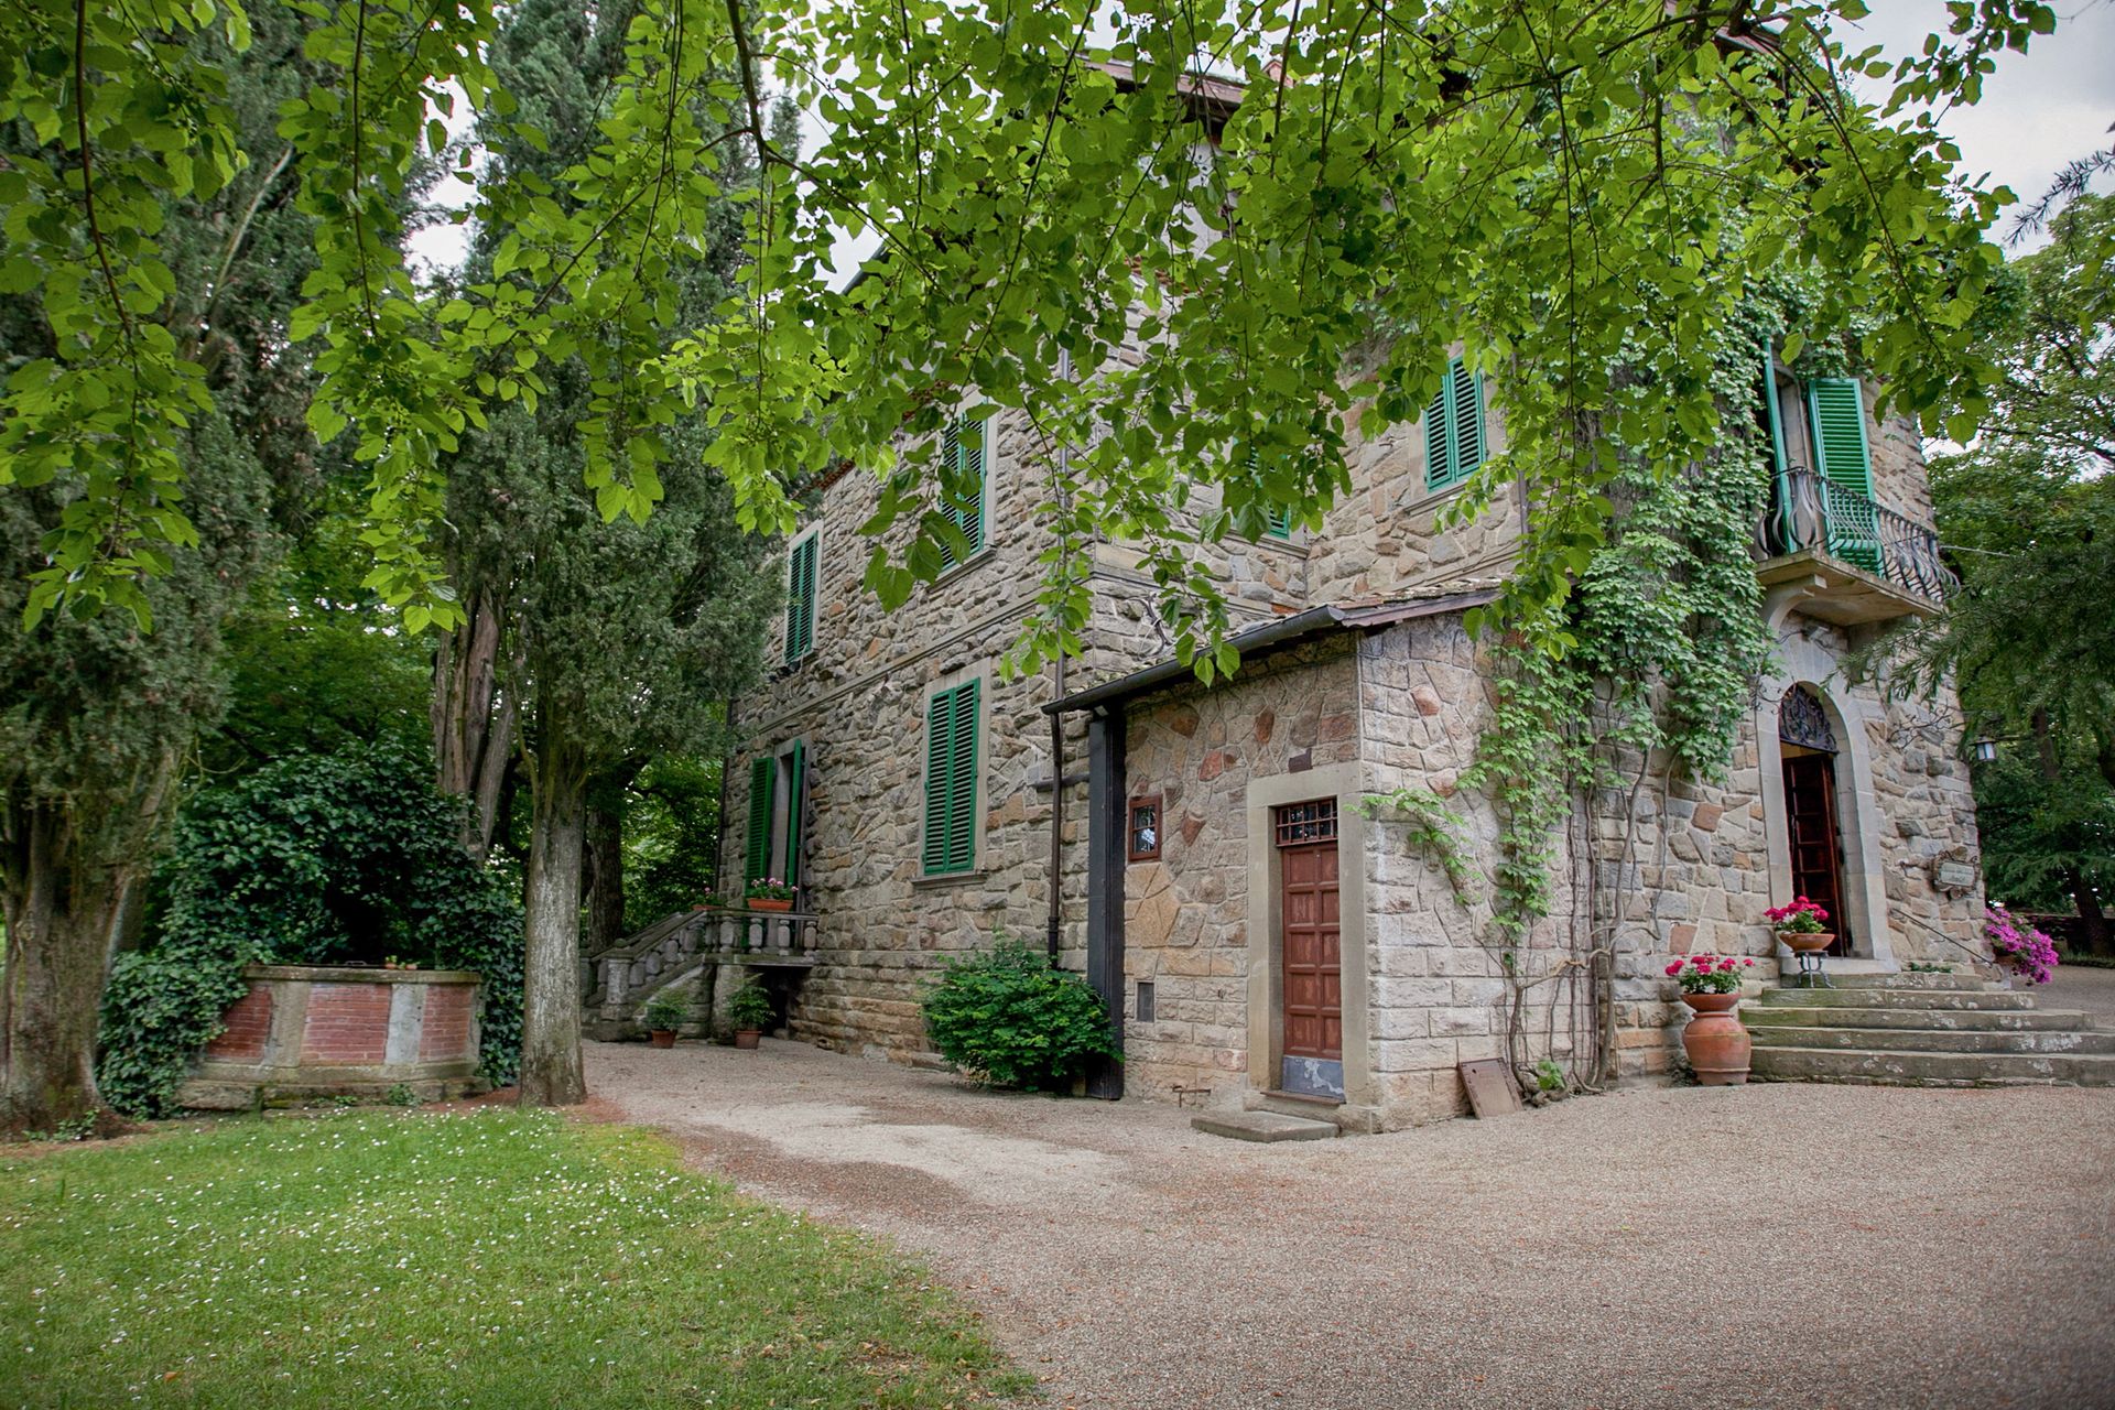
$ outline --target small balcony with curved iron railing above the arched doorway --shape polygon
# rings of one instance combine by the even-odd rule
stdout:
[[[1800,611],[1857,626],[1929,617],[1958,586],[1939,535],[1857,490],[1794,465],[1755,524],[1755,577],[1800,592]]]

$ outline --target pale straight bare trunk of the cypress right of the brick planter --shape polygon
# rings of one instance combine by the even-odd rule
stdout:
[[[580,1065],[580,858],[588,769],[580,748],[539,721],[529,767],[527,953],[522,956],[522,1106],[588,1099]]]

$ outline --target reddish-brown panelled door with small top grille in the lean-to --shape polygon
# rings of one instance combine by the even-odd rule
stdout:
[[[1324,816],[1326,808],[1326,816]],[[1343,953],[1337,909],[1337,810],[1280,810],[1284,1084],[1343,1095]]]

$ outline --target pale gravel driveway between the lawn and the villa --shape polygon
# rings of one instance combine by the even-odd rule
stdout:
[[[766,1040],[594,1108],[888,1235],[1051,1406],[2115,1406],[2115,1091],[1639,1089],[1246,1146]]]

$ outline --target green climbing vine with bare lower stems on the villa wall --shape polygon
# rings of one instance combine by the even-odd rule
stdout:
[[[1571,1078],[1593,1087],[1610,1076],[1612,985],[1620,898],[1595,896],[1597,865],[1610,837],[1597,818],[1620,818],[1618,877],[1635,865],[1639,795],[1656,784],[1724,782],[1741,721],[1753,708],[1755,679],[1772,643],[1762,588],[1749,554],[1751,533],[1770,495],[1770,450],[1760,391],[1766,349],[1796,353],[1802,374],[1853,366],[1857,330],[1802,340],[1817,307],[1813,281],[1779,279],[1743,298],[1711,349],[1709,387],[1719,408],[1713,450],[1700,463],[1667,465],[1650,446],[1633,448],[1601,421],[1574,423],[1569,454],[1610,459],[1601,493],[1610,501],[1599,543],[1567,537],[1565,516],[1533,505],[1523,528],[1523,571],[1561,571],[1565,592],[1550,607],[1538,594],[1504,596],[1472,630],[1493,672],[1493,715],[1461,774],[1500,822],[1485,877],[1489,943],[1508,981],[1508,1049],[1523,1080],[1546,1089],[1544,1063],[1557,1046],[1559,1013],[1574,1015]],[[1787,336],[1789,334],[1789,336]],[[1802,347],[1804,345],[1804,347]],[[1635,389],[1650,395],[1643,374]],[[1533,484],[1531,484],[1533,490]],[[1470,501],[1461,512],[1474,512]],[[1557,564],[1557,569],[1552,569]],[[1459,846],[1459,820],[1445,801],[1417,789],[1368,799],[1385,808],[1428,850],[1459,898],[1470,901],[1474,871]],[[1665,810],[1662,810],[1665,816]],[[1523,949],[1555,909],[1555,865],[1563,829],[1582,854],[1574,875],[1586,890],[1584,924],[1555,964],[1527,964]],[[1605,913],[1603,913],[1605,909]],[[1544,1057],[1529,1053],[1529,991],[1559,985],[1569,998],[1548,1004]],[[1586,1019],[1586,1013],[1595,1017]],[[1597,1042],[1578,1042],[1593,1029]]]

